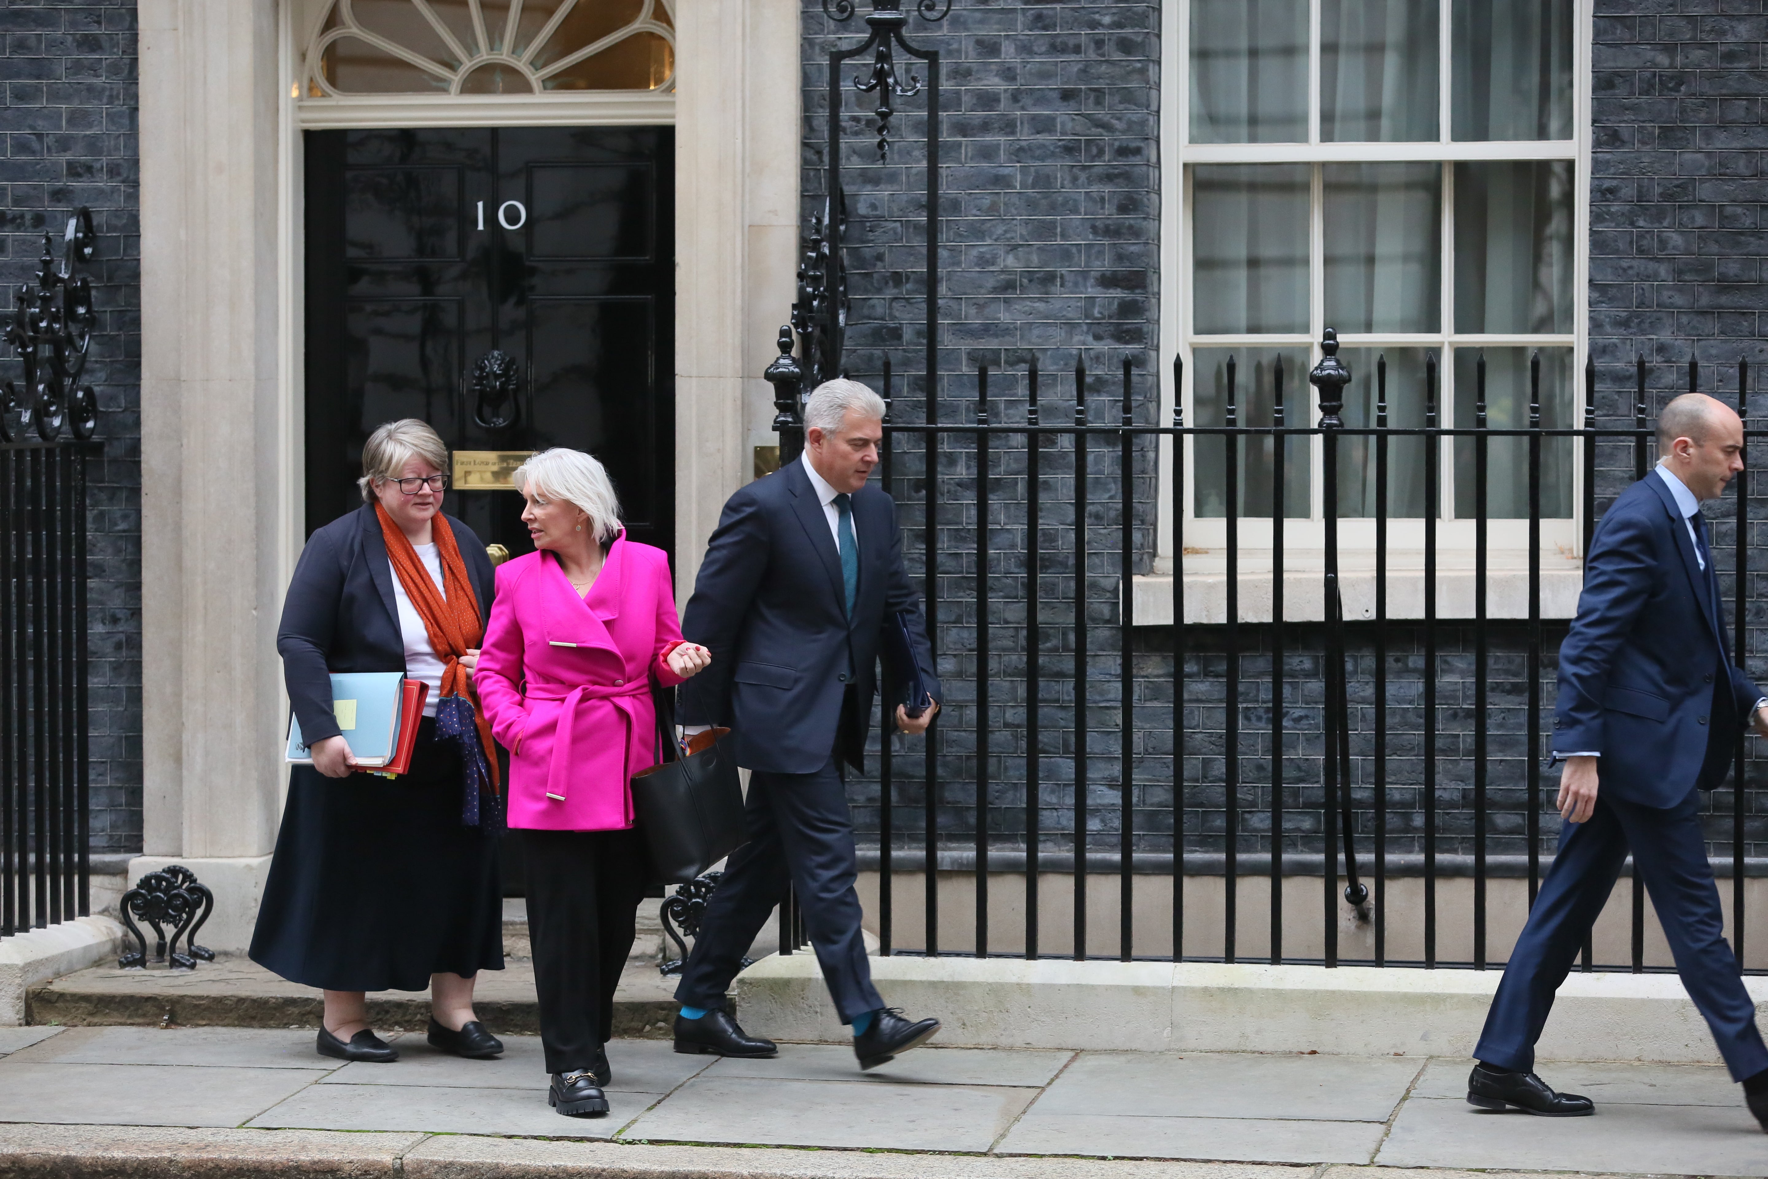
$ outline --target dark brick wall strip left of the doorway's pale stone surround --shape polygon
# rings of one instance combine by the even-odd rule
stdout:
[[[92,468],[92,850],[141,848],[141,299],[133,0],[0,0],[0,283],[32,281],[42,232],[92,209],[99,325]],[[5,299],[11,315],[11,297]],[[18,375],[18,361],[0,357]]]

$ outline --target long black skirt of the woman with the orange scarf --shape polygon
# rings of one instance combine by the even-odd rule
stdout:
[[[461,772],[426,718],[400,778],[288,776],[251,960],[324,990],[428,990],[504,969],[497,838],[460,820]]]

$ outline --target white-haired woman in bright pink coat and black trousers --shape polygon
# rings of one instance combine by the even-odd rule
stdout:
[[[474,684],[509,749],[548,1101],[596,1115],[608,1112],[613,988],[645,891],[628,783],[658,760],[651,681],[674,688],[711,654],[682,642],[668,557],[626,539],[601,463],[541,451],[514,483],[536,551],[497,569]]]

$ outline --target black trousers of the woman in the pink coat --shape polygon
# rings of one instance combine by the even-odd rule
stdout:
[[[589,1068],[613,1036],[613,988],[645,894],[638,831],[523,831],[534,990],[548,1073]]]

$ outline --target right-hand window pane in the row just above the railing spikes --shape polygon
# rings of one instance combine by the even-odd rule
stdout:
[[[1574,331],[1570,159],[1455,164],[1455,331]]]

